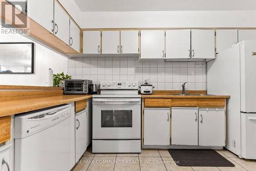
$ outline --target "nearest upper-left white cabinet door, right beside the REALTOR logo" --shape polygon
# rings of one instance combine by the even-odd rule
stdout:
[[[32,18],[39,25],[47,29],[49,32],[53,32],[53,7],[54,0],[41,1],[28,0],[28,16]],[[47,10],[47,12],[46,12]]]

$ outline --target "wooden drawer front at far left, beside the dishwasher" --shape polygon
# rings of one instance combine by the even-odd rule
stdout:
[[[0,143],[11,138],[11,116],[0,118]]]

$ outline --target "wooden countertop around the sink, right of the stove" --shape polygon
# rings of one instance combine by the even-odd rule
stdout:
[[[186,92],[187,94],[207,94],[207,91],[202,90],[190,90]],[[155,91],[153,94],[142,94],[141,98],[230,98],[227,95],[174,95],[174,94],[181,94],[181,91]]]

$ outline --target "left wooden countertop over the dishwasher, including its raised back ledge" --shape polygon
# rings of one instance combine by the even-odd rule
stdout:
[[[92,95],[63,95],[62,89],[0,85],[0,117],[92,98]]]

